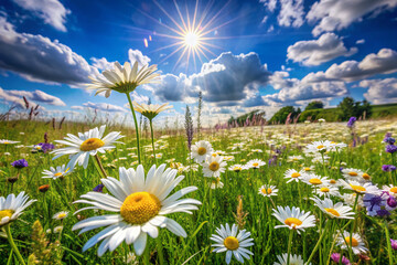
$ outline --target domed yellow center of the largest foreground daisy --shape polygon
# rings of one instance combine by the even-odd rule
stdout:
[[[127,223],[144,224],[154,218],[161,209],[160,200],[149,192],[135,192],[124,201],[120,214]]]

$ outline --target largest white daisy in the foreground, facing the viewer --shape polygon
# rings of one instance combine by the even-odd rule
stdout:
[[[197,210],[196,204],[201,204],[201,202],[194,199],[179,200],[197,190],[196,187],[183,188],[170,195],[172,190],[184,179],[184,176],[175,177],[176,170],[165,169],[165,165],[161,165],[159,168],[153,165],[146,177],[143,167],[140,165],[137,171],[132,168],[120,168],[120,180],[101,179],[112,195],[88,192],[75,203],[92,204],[79,211],[97,209],[114,212],[114,214],[88,218],[73,226],[73,230],[82,229],[79,233],[106,226],[87,241],[83,251],[101,241],[98,247],[98,256],[101,256],[106,251],[112,252],[118,245],[126,242],[128,245],[133,243],[136,254],[141,255],[146,248],[148,234],[153,239],[158,237],[158,227],[167,227],[175,235],[186,237],[184,229],[165,215],[176,212],[192,213],[191,210]]]

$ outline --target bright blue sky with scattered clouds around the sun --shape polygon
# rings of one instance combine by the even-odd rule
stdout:
[[[181,117],[186,104],[195,113],[198,91],[208,124],[253,109],[270,117],[281,106],[304,108],[315,99],[326,106],[344,96],[397,102],[397,0],[2,3],[2,110],[22,107],[25,96],[44,117],[73,118],[89,109],[124,117],[125,96],[94,96],[84,84],[115,61],[136,60],[158,64],[162,82],[138,87],[133,97],[170,102],[174,109],[162,120]],[[208,51],[187,64],[185,43],[170,46],[176,42],[170,35],[181,31],[175,23],[192,23],[195,10]]]

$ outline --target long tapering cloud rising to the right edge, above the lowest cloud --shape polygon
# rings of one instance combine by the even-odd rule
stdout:
[[[371,53],[361,62],[345,61],[331,65],[325,72],[308,74],[302,81],[305,83],[323,81],[353,82],[377,74],[397,72],[397,52],[391,49],[382,49],[377,54]]]

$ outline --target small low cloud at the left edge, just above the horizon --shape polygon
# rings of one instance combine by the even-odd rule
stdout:
[[[22,98],[23,96],[26,97],[28,100],[32,100],[34,104],[39,103],[53,106],[66,106],[61,98],[49,95],[42,91],[6,91],[0,87],[0,98],[8,103],[15,104],[19,107],[24,107],[25,105]]]

